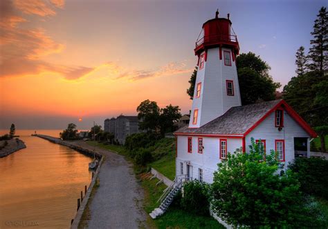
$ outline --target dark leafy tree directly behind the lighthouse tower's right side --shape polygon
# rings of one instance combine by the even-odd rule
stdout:
[[[248,52],[236,58],[236,65],[242,105],[255,103],[259,99],[275,99],[275,90],[281,85],[268,74],[271,68],[265,61],[255,53]]]

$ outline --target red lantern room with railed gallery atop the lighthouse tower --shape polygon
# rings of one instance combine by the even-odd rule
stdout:
[[[231,48],[235,55],[239,54],[239,43],[231,24],[229,14],[227,18],[219,18],[219,11],[217,11],[214,19],[203,23],[194,53],[199,56],[201,52],[208,50],[208,48],[226,47]]]

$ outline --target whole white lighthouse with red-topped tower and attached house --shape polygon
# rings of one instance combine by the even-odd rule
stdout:
[[[302,156],[309,157],[316,132],[284,100],[242,106],[235,63],[239,43],[229,15],[218,14],[203,24],[194,49],[199,68],[190,123],[174,132],[176,175],[212,183],[217,163],[237,148],[248,152],[252,137],[264,153],[275,150],[285,168],[295,158],[295,141],[304,142]]]

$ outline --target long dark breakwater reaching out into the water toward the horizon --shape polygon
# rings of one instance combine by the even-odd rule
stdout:
[[[60,138],[51,137],[51,136],[48,136],[48,135],[32,135],[32,136],[40,137],[42,139],[46,139],[48,141],[51,141],[52,143],[60,144],[62,146],[67,146],[69,148],[72,148],[73,150],[76,150],[76,151],[82,153],[82,155],[86,155],[86,156],[89,156],[89,157],[95,157],[96,159],[99,159],[99,160],[102,158],[102,155],[99,152],[96,152],[95,150],[90,150],[90,149],[87,149],[87,148],[82,148],[80,146],[77,146],[73,142],[71,143],[69,141],[63,141]]]

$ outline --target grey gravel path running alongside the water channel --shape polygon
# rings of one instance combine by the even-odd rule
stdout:
[[[105,157],[100,168],[100,187],[89,205],[89,228],[145,228],[143,191],[131,164],[115,152],[90,146],[84,141],[73,144],[97,150]]]

